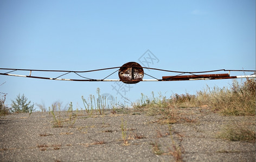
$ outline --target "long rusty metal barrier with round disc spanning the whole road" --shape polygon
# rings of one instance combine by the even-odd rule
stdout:
[[[95,71],[103,71],[103,70],[111,70],[111,69],[119,69],[112,72],[110,75],[107,75],[103,79],[92,79],[88,77],[84,77],[81,73],[86,72],[95,72]],[[172,72],[172,73],[180,73],[176,76],[163,76],[161,79],[157,79],[147,73],[144,72],[143,69],[151,69],[151,70],[158,70],[158,71],[165,71],[165,72]],[[8,72],[0,72],[0,75],[5,76],[15,76],[15,77],[27,77],[27,78],[36,78],[36,79],[50,79],[50,80],[68,80],[68,81],[89,81],[89,82],[123,82],[126,84],[135,84],[138,82],[146,82],[146,81],[179,81],[179,80],[210,80],[210,79],[233,79],[233,78],[256,78],[256,71],[255,70],[210,70],[210,71],[196,71],[196,72],[184,72],[184,71],[171,71],[171,70],[164,70],[164,69],[156,69],[156,68],[146,68],[140,66],[136,62],[129,62],[125,63],[123,66],[120,67],[113,67],[113,68],[105,68],[105,69],[96,69],[96,70],[87,70],[87,71],[68,71],[68,70],[31,70],[31,69],[10,69],[10,68],[0,68],[1,70],[8,70]],[[17,75],[13,72],[16,71],[28,71],[29,75]],[[40,77],[40,76],[33,76],[33,71],[39,72],[62,72],[62,75],[59,75],[55,78],[49,77]],[[107,79],[114,73],[118,71],[119,79]],[[218,73],[218,74],[204,74],[204,75],[197,75],[197,73],[208,73],[208,72],[217,72],[217,71],[228,71],[228,73]],[[241,72],[253,72],[252,75],[244,75],[244,76],[230,76],[231,71],[241,71]],[[75,75],[83,78],[83,79],[66,79],[60,78],[69,73],[74,73]],[[184,74],[189,75],[184,75]],[[143,79],[144,75],[147,75],[153,79]]]

